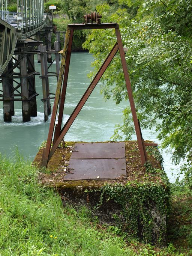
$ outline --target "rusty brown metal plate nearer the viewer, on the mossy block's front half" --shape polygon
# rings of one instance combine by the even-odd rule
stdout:
[[[64,180],[126,179],[125,158],[70,159]]]

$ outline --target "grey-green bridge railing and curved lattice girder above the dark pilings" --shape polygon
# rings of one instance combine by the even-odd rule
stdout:
[[[18,40],[24,40],[49,25],[43,0],[17,0],[17,12],[9,12],[0,0],[0,75],[13,56]]]

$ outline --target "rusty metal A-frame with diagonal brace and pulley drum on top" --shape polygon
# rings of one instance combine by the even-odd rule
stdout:
[[[86,14],[84,16],[86,22],[85,24],[69,24],[66,30],[66,39],[65,44],[63,48],[63,54],[62,54],[62,61],[60,66],[60,73],[58,77],[58,83],[57,83],[57,89],[55,93],[55,101],[54,106],[52,109],[52,116],[51,116],[51,123],[49,126],[49,133],[48,133],[48,139],[46,142],[46,148],[43,151],[42,155],[42,162],[41,166],[47,167],[48,161],[54,154],[55,150],[57,149],[60,142],[63,140],[63,137],[68,132],[69,128],[71,127],[72,123],[74,122],[77,115],[80,113],[81,109],[83,108],[84,104],[86,103],[87,99],[89,98],[90,94],[92,93],[95,86],[98,84],[99,80],[101,79],[102,75],[106,71],[107,67],[110,65],[111,61],[113,60],[115,54],[119,50],[121,63],[123,67],[123,73],[125,78],[125,83],[127,87],[127,93],[129,96],[129,102],[130,102],[130,108],[132,111],[133,116],[133,123],[135,126],[137,141],[138,141],[138,148],[139,153],[141,156],[141,164],[144,168],[144,164],[147,161],[147,154],[145,151],[145,143],[142,139],[142,133],[139,126],[139,120],[137,119],[137,114],[135,110],[135,104],[133,100],[132,95],[132,89],[129,79],[129,73],[127,70],[126,60],[125,60],[125,53],[123,49],[123,44],[121,40],[120,30],[117,23],[100,23],[101,15],[97,14],[96,12],[91,14]],[[91,23],[89,23],[91,22]],[[96,22],[96,23],[94,23]],[[115,43],[114,47],[111,49],[110,53],[108,54],[107,58],[105,59],[104,63],[102,64],[101,68],[93,78],[92,82],[90,83],[89,87],[87,88],[86,92],[80,99],[79,103],[75,107],[73,113],[65,123],[65,125],[62,127],[62,118],[63,118],[63,110],[65,105],[65,96],[66,96],[66,88],[67,88],[67,81],[68,81],[68,74],[69,74],[69,63],[71,59],[71,49],[72,49],[72,41],[73,41],[73,35],[74,30],[84,30],[84,29],[115,29],[115,34],[117,38],[117,42]],[[63,86],[62,86],[63,81]],[[61,99],[60,99],[60,93],[61,93]],[[55,124],[55,119],[57,115],[57,108],[59,105],[59,99],[60,99],[60,108],[59,108],[59,115],[58,115],[58,123]],[[54,132],[55,128],[55,132]],[[54,140],[53,145],[51,148],[52,143],[52,137],[54,133]]]

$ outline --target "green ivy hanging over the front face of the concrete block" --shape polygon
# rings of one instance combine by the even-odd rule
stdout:
[[[163,172],[163,171],[162,171]],[[129,181],[126,185],[106,184],[100,189],[100,207],[105,201],[113,200],[118,204],[121,216],[115,216],[118,232],[138,238],[144,242],[162,244],[165,240],[165,221],[160,221],[156,226],[157,215],[165,220],[169,212],[170,186],[168,179],[165,184],[160,182]],[[163,178],[163,177],[162,177]],[[154,214],[156,212],[157,214]],[[154,237],[156,230],[156,237]]]

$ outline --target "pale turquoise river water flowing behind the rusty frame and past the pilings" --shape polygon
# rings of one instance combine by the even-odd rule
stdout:
[[[93,56],[89,53],[72,53],[64,122],[69,118],[87,86],[89,86],[90,80],[87,74],[92,70],[92,61]],[[36,71],[40,72],[40,63],[37,63],[37,58],[35,62]],[[55,63],[53,63],[49,71],[55,72]],[[56,86],[56,78],[50,77],[49,87],[51,93],[55,93]],[[3,103],[0,102],[0,152],[7,157],[13,154],[17,145],[23,157],[33,160],[38,147],[47,139],[50,116],[49,120],[44,122],[43,103],[40,101],[43,98],[42,84],[38,76],[36,76],[36,91],[39,93],[37,97],[38,112],[37,117],[31,117],[31,122],[22,122],[21,102],[15,102],[15,116],[12,117],[12,122],[3,122]],[[65,140],[85,142],[110,140],[115,124],[123,123],[122,111],[127,104],[129,103],[124,101],[117,106],[112,99],[105,102],[98,84],[66,134]],[[53,99],[51,100],[51,106],[53,106]],[[160,142],[156,139],[157,133],[155,131],[142,130],[142,135],[145,140],[153,140],[160,146]],[[136,137],[133,136],[132,139],[135,140]],[[170,181],[173,182],[179,166],[171,164],[171,154],[163,151],[162,155],[165,171]]]

